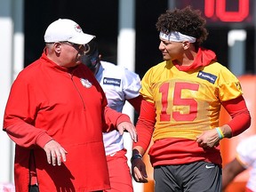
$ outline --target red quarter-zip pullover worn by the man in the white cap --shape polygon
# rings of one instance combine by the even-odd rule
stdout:
[[[16,143],[16,191],[28,191],[34,165],[39,191],[110,188],[102,140],[104,113],[114,126],[123,115],[106,105],[100,84],[84,65],[63,68],[43,53],[23,69],[12,84],[4,113],[4,131]],[[60,166],[47,163],[43,148],[49,140],[68,151]]]

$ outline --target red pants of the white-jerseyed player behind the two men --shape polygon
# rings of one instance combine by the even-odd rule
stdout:
[[[111,189],[108,192],[133,192],[132,176],[125,156],[126,149],[107,156]]]

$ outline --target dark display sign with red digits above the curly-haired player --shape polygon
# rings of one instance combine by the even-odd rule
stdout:
[[[199,9],[208,25],[254,25],[254,0],[176,0],[175,7]]]

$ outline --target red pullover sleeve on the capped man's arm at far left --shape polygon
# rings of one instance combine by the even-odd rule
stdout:
[[[4,111],[4,131],[18,145],[24,148],[41,148],[52,140],[46,131],[36,128],[36,92],[22,76],[18,76]]]

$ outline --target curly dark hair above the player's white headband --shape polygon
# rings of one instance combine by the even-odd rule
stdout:
[[[195,45],[199,46],[208,36],[205,24],[206,20],[201,16],[201,12],[187,6],[184,9],[167,10],[161,14],[156,22],[156,29],[166,34],[178,31],[184,35],[196,37]]]

